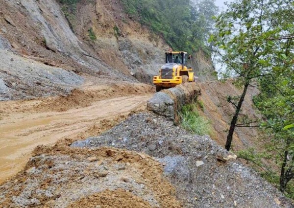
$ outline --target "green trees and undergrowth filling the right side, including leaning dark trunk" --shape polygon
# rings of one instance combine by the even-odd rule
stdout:
[[[228,99],[236,108],[226,149],[230,150],[235,128],[264,127],[265,152],[240,155],[263,169],[265,178],[294,197],[294,3],[291,0],[236,0],[217,18],[214,41],[226,64],[228,76],[237,76],[243,93]],[[285,18],[287,17],[287,18]],[[240,112],[249,87],[258,87],[255,104],[264,122],[240,122]],[[268,167],[259,159],[271,160]],[[279,171],[277,171],[279,170]]]

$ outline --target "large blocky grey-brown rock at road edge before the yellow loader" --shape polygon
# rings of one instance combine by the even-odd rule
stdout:
[[[175,88],[155,93],[147,102],[147,110],[177,121],[177,111],[200,94],[200,88],[196,83],[178,85]]]

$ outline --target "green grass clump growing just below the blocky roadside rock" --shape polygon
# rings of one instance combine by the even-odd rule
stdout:
[[[213,129],[210,120],[204,116],[200,116],[199,106],[197,103],[185,105],[182,108],[180,114],[181,122],[180,125],[183,129],[186,129],[196,135],[213,135]]]

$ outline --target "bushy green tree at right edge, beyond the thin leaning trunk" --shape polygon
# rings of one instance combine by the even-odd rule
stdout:
[[[270,136],[267,152],[280,169],[279,185],[284,192],[294,178],[294,40],[282,44],[285,50],[281,50],[279,65],[273,67],[270,77],[259,79],[261,93],[255,104],[266,118],[263,126]]]

